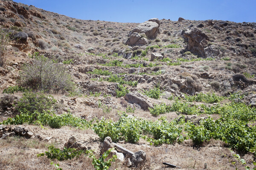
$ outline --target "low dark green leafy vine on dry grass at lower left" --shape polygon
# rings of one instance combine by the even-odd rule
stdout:
[[[64,161],[68,159],[73,159],[75,157],[79,157],[84,153],[83,150],[76,150],[76,148],[67,148],[64,147],[63,150],[55,148],[53,145],[48,147],[49,151],[45,153],[39,153],[37,157],[46,155],[49,159],[57,159],[58,161]]]

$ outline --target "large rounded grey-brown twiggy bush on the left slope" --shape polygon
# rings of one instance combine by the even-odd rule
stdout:
[[[75,84],[67,69],[43,55],[35,56],[32,64],[26,64],[23,67],[18,84],[47,91],[73,91],[75,89]]]

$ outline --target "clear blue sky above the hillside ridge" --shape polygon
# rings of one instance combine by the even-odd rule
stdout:
[[[256,0],[14,0],[82,20],[141,23],[150,18],[256,22]]]

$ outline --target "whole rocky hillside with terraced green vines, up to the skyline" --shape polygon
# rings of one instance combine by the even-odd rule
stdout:
[[[79,20],[1,0],[0,25],[0,169],[94,169],[90,153],[37,158],[49,144],[116,147],[110,169],[253,168],[256,23]]]

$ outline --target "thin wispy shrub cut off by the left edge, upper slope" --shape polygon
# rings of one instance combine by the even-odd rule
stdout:
[[[0,66],[3,66],[6,60],[4,52],[6,51],[6,46],[8,45],[9,41],[10,34],[0,28]]]

